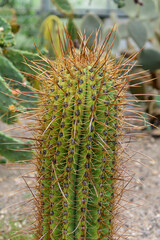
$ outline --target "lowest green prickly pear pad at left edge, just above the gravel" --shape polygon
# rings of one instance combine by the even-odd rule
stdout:
[[[31,142],[23,143],[17,139],[0,132],[0,154],[8,160],[23,161],[32,159],[32,152],[23,150],[31,148]]]

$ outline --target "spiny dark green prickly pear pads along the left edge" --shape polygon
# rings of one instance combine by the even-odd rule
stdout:
[[[37,54],[11,49],[14,45],[11,26],[0,17],[0,120],[7,124],[15,123],[19,112],[36,107],[36,94],[20,71],[33,74],[31,62],[33,59],[34,62],[39,61],[40,58]],[[30,66],[27,65],[29,60]],[[30,80],[33,81],[31,76]],[[22,148],[30,146],[0,132],[0,155],[10,161],[31,159],[31,152],[22,152]]]

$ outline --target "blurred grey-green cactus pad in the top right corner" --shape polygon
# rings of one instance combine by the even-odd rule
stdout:
[[[143,6],[139,8],[140,19],[154,19],[157,17],[156,5],[153,0],[143,0]]]

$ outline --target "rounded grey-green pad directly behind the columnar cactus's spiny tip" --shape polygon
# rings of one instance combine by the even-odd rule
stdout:
[[[91,34],[91,38],[88,42],[88,46],[91,47],[94,43],[96,32],[99,30],[97,41],[102,34],[102,21],[94,13],[88,13],[82,18],[81,31],[82,34],[86,32],[86,37],[88,38]]]

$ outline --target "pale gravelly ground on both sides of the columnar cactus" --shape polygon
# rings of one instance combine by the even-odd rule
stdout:
[[[3,126],[1,125],[3,128]],[[131,161],[131,171],[135,173],[135,187],[126,199],[133,207],[125,213],[125,227],[129,230],[127,235],[120,239],[134,240],[158,240],[160,239],[160,138],[153,138],[149,133],[144,139],[132,143],[129,150],[134,153],[138,151]],[[10,231],[7,229],[9,219],[19,221],[24,219],[20,227],[24,227],[25,204],[29,193],[20,191],[26,184],[21,178],[28,171],[24,165],[0,165],[0,221],[6,224],[0,233]],[[30,173],[32,175],[32,173]],[[20,178],[19,178],[20,177]],[[29,178],[28,183],[32,184]],[[19,208],[19,206],[22,208]],[[0,238],[3,239],[3,238]]]

